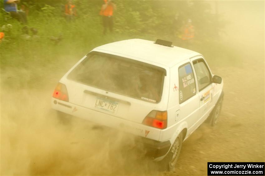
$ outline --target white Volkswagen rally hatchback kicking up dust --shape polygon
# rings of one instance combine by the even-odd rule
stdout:
[[[52,108],[136,135],[174,168],[182,142],[207,118],[216,124],[223,81],[197,52],[130,39],[94,48],[61,79]]]

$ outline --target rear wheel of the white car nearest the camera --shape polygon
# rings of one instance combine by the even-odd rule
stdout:
[[[177,160],[179,158],[180,151],[181,151],[181,146],[182,146],[182,141],[183,141],[182,138],[183,138],[182,133],[180,133],[178,137],[175,139],[174,143],[172,144],[168,152],[168,156],[169,156],[168,167],[167,167],[168,171],[175,170],[175,165],[177,163]]]

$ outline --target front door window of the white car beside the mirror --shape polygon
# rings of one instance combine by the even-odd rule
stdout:
[[[193,66],[198,80],[199,91],[201,91],[211,83],[212,76],[203,59],[193,61]]]

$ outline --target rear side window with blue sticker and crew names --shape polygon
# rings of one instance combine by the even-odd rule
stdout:
[[[183,103],[196,94],[194,73],[190,63],[179,67],[179,103]]]

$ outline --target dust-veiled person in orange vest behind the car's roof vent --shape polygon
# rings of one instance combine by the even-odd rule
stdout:
[[[190,45],[193,43],[194,39],[194,34],[195,34],[195,29],[194,26],[192,25],[192,21],[189,19],[188,22],[182,27],[182,44],[184,45],[183,47],[186,47],[189,49]]]

